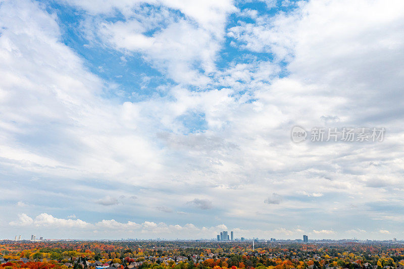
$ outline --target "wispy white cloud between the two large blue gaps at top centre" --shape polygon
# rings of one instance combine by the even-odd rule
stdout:
[[[224,41],[226,18],[230,12],[236,11],[230,0],[162,0],[149,2],[152,6],[147,8],[139,5],[141,1],[135,0],[107,2],[101,9],[96,2],[67,2],[94,15],[110,13],[117,8],[127,20],[104,22],[99,28],[90,27],[87,35],[99,35],[116,49],[140,52],[143,59],[158,70],[185,84],[208,83],[204,73],[209,74],[216,69],[214,62]],[[178,17],[171,9],[180,11],[185,17]],[[155,31],[151,36],[146,34],[150,30]]]

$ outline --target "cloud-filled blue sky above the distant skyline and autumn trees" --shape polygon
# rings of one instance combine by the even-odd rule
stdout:
[[[401,0],[0,0],[0,239],[404,239],[403,51]]]

